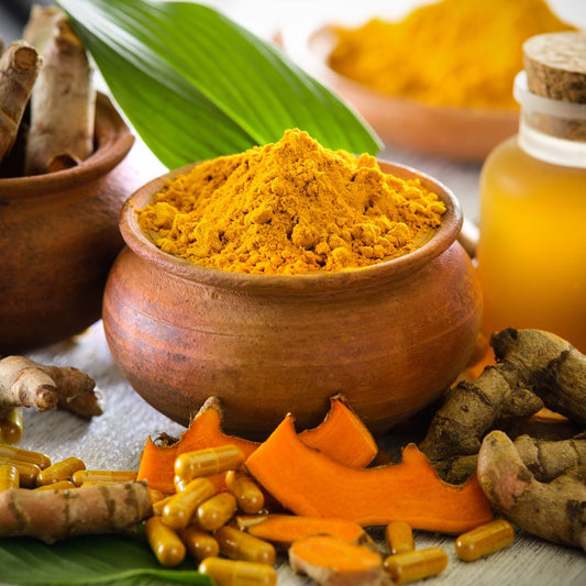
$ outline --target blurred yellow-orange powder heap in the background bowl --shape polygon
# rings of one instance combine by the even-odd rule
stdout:
[[[418,101],[517,108],[513,78],[533,35],[575,30],[544,0],[443,0],[399,21],[334,27],[329,65],[372,89]]]

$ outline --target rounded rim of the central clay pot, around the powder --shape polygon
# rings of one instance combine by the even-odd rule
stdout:
[[[120,231],[129,248],[137,256],[166,273],[183,279],[211,285],[224,289],[250,290],[255,292],[278,291],[318,292],[335,289],[362,289],[379,284],[380,280],[403,278],[445,252],[456,240],[463,223],[460,201],[442,183],[412,167],[378,159],[385,173],[401,178],[419,177],[422,185],[438,194],[445,203],[446,211],[442,223],[431,237],[414,251],[374,265],[340,270],[335,273],[307,273],[302,275],[259,275],[234,273],[197,265],[184,258],[161,251],[142,231],[137,222],[137,209],[152,202],[155,194],[176,175],[187,173],[197,163],[166,173],[139,188],[124,203],[120,214]]]

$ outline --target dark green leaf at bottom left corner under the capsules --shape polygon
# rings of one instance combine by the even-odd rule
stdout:
[[[195,570],[195,562],[163,568],[144,541],[120,535],[80,537],[53,545],[27,538],[0,539],[0,568],[3,584],[213,585]]]

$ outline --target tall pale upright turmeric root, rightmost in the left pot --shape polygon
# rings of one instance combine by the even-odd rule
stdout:
[[[31,96],[25,174],[78,165],[93,152],[96,91],[86,48],[65,15],[43,46],[44,66]],[[67,112],[67,124],[63,113]]]

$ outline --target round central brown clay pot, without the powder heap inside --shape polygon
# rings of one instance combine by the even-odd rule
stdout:
[[[134,389],[183,424],[215,395],[224,429],[251,439],[289,411],[299,429],[317,425],[336,392],[374,433],[438,398],[466,365],[480,321],[476,275],[456,242],[462,214],[433,179],[380,166],[422,177],[447,206],[442,226],[410,254],[333,274],[237,274],[165,254],[135,208],[168,175],[139,189],[121,214],[128,247],[103,305],[112,356]]]

